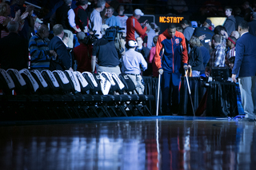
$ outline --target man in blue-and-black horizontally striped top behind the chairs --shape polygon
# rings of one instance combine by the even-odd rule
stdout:
[[[29,48],[30,48],[30,68],[38,69],[42,71],[43,69],[50,68],[50,58],[54,57],[56,59],[57,53],[54,50],[49,49],[49,30],[46,25],[41,25],[38,27],[38,32],[30,38]]]

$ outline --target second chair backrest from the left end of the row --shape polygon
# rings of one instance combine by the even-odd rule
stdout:
[[[15,92],[17,94],[26,94],[27,85],[21,73],[19,73],[17,69],[7,69],[7,73],[14,81]]]

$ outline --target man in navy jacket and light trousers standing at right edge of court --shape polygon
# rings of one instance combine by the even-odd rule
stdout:
[[[238,24],[241,37],[236,42],[236,55],[232,79],[238,77],[242,106],[246,117],[242,121],[255,121],[256,114],[256,37],[249,34],[246,21]]]

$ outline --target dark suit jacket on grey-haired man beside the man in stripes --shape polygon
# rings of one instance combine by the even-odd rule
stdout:
[[[51,60],[50,61],[50,70],[66,70],[70,69],[71,67],[71,60],[72,58],[70,57],[66,45],[62,42],[58,36],[54,36],[53,39],[50,41],[49,45],[50,50],[54,50],[57,54],[58,57],[56,60]]]

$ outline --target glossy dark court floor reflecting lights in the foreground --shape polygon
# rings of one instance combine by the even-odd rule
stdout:
[[[201,117],[0,122],[0,169],[256,169],[255,127]]]

